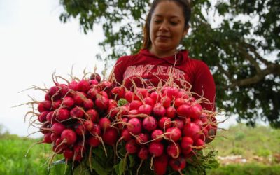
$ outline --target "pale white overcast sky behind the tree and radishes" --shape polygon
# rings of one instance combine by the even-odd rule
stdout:
[[[30,97],[42,100],[44,93],[26,90],[32,85],[51,87],[52,73],[81,78],[83,70],[101,73],[104,62],[95,55],[103,53],[98,43],[104,39],[100,26],[83,34],[78,20],[59,21],[59,0],[0,0],[0,125],[10,134],[25,137],[37,129],[25,121]],[[22,92],[22,90],[25,90]],[[234,116],[220,127],[235,124]],[[28,117],[27,117],[28,119]],[[223,120],[218,116],[218,120]],[[0,131],[1,132],[1,131]],[[41,137],[40,133],[31,137]]]

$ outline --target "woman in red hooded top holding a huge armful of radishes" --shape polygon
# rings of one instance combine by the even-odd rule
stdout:
[[[188,57],[188,51],[177,50],[186,36],[190,21],[188,0],[155,0],[146,18],[144,44],[136,55],[120,57],[113,69],[116,82],[130,88],[164,85],[170,77],[197,97],[210,103],[202,107],[215,110],[216,87],[214,78],[204,62]]]

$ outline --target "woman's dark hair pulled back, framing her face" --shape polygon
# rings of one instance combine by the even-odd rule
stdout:
[[[148,49],[151,46],[151,38],[150,38],[150,25],[151,18],[155,8],[158,6],[158,3],[162,1],[173,1],[178,3],[181,8],[183,8],[183,15],[185,19],[185,29],[189,27],[188,23],[190,22],[191,8],[190,8],[190,0],[154,0],[151,4],[150,11],[148,12],[146,22],[144,25],[144,42],[142,45],[143,49]]]

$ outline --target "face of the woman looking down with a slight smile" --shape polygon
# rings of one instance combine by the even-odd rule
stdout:
[[[183,9],[174,1],[158,3],[151,17],[151,52],[174,54],[187,32]]]

